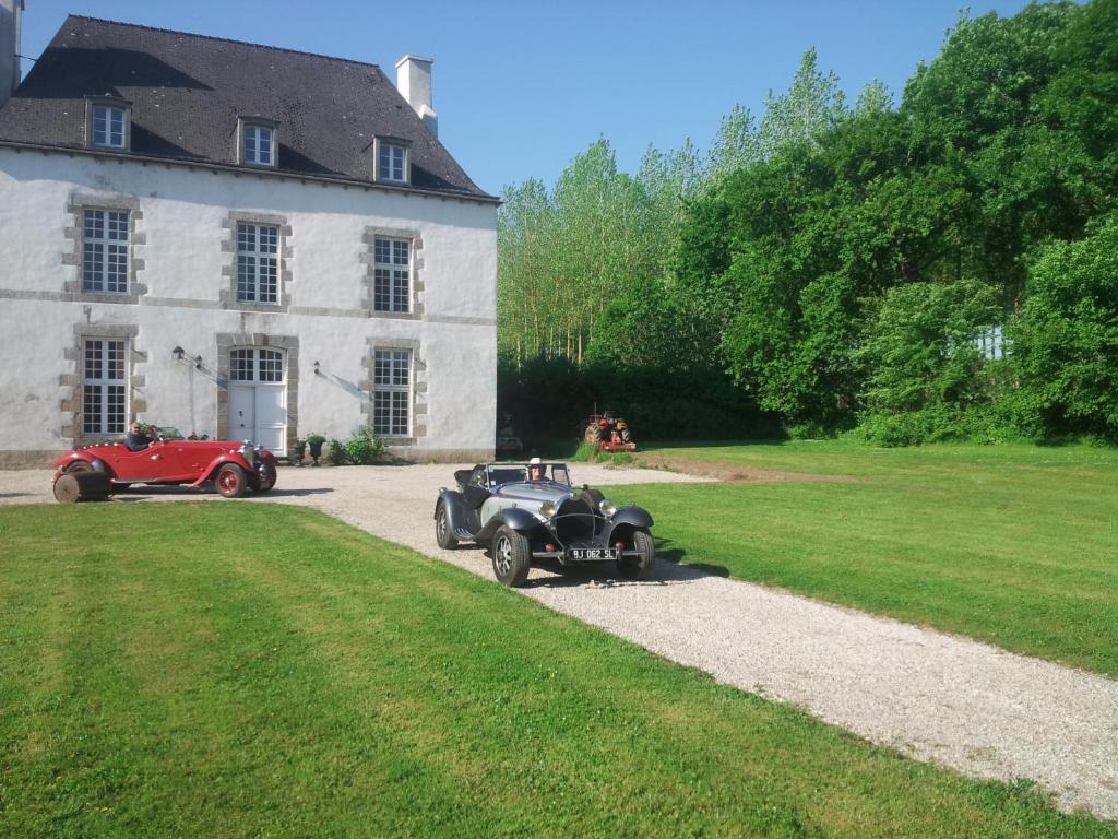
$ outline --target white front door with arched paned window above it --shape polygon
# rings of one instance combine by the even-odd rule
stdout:
[[[229,360],[229,436],[250,440],[273,454],[286,454],[287,387],[283,351],[235,349]]]

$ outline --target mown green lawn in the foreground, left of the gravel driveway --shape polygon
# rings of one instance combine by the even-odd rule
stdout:
[[[1103,837],[311,510],[0,508],[0,836]]]

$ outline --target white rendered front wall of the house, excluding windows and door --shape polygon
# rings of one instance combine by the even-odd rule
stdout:
[[[79,280],[79,268],[64,264],[75,249],[66,237],[75,196],[139,200],[143,244],[132,258],[144,262],[136,282],[148,287],[139,303],[82,302],[65,291]],[[234,210],[284,216],[291,225],[288,312],[220,307],[220,292],[230,287],[222,267],[234,258],[222,252],[230,236],[222,223]],[[419,233],[421,319],[364,311],[369,226]],[[361,413],[368,394],[359,389],[369,377],[367,339],[418,340],[427,392],[417,402],[427,405],[427,433],[401,453],[482,456],[492,451],[495,420],[495,227],[492,204],[0,149],[0,452],[69,447],[61,403],[73,386],[59,381],[75,373],[64,358],[75,324],[88,322],[139,327],[134,349],[146,360],[132,373],[144,379],[134,394],[146,400],[141,421],[190,430],[192,400],[195,430],[211,435],[219,332],[297,336],[297,432],[340,437],[368,421]],[[304,311],[323,308],[330,313]],[[176,346],[201,355],[203,370],[176,361]]]

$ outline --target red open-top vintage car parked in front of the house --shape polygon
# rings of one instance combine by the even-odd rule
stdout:
[[[248,441],[183,440],[172,428],[149,426],[154,442],[140,451],[124,443],[96,443],[75,449],[55,461],[55,481],[73,472],[103,472],[114,490],[133,483],[188,483],[214,481],[226,498],[246,489],[267,492],[276,482],[272,452]],[[56,493],[57,496],[57,493]]]

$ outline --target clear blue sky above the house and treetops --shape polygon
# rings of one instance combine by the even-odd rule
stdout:
[[[490,192],[553,182],[604,135],[623,169],[650,143],[705,149],[735,103],[761,111],[804,50],[855,96],[880,78],[900,97],[939,51],[964,0],[27,0],[23,48],[38,56],[67,13],[180,29],[379,64],[435,59],[439,138]],[[972,16],[1025,0],[970,0]],[[25,72],[29,67],[25,62]]]

